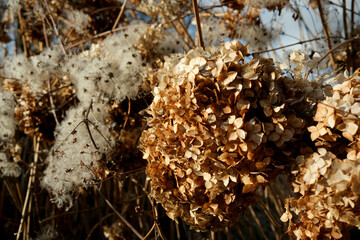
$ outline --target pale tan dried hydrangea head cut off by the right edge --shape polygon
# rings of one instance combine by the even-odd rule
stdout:
[[[283,221],[297,239],[347,238],[360,227],[360,70],[333,86],[332,95],[317,104],[316,125],[310,126],[316,151],[296,158],[290,198]],[[291,221],[290,210],[298,215]]]

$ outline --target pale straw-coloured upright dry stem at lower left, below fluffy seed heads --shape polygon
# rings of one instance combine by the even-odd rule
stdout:
[[[22,230],[23,224],[24,224],[24,219],[25,219],[26,210],[28,207],[32,184],[35,182],[36,166],[37,166],[37,162],[39,159],[39,146],[40,146],[39,139],[40,138],[38,136],[34,136],[34,162],[31,163],[31,165],[30,165],[31,169],[30,169],[29,182],[28,182],[27,192],[26,192],[26,196],[25,196],[25,200],[24,200],[24,205],[23,205],[23,208],[21,211],[21,220],[20,220],[18,232],[16,234],[16,240],[19,240],[19,238],[20,238],[20,233],[21,233],[21,230]]]

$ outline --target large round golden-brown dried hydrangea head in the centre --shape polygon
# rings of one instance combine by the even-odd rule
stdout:
[[[291,109],[301,97],[292,80],[271,59],[245,60],[248,53],[236,41],[191,50],[154,75],[141,138],[152,196],[196,229],[234,223],[288,164],[305,126]]]

